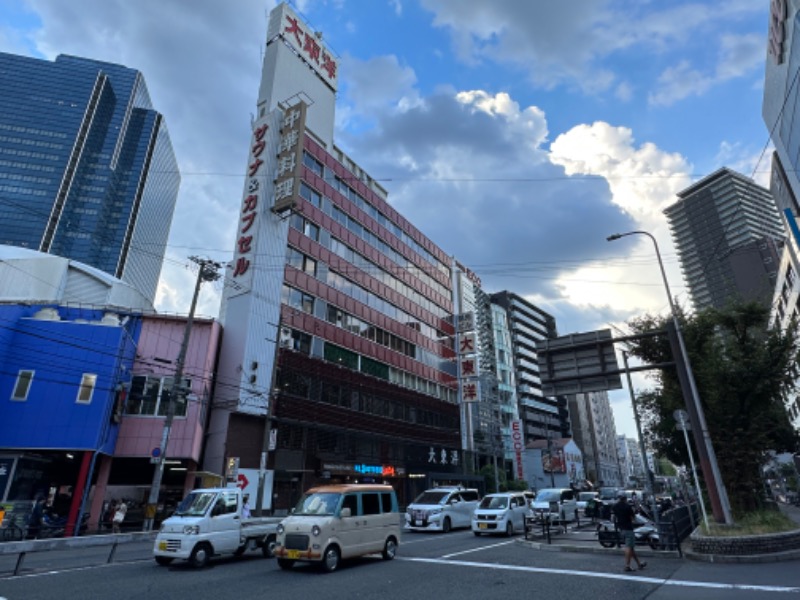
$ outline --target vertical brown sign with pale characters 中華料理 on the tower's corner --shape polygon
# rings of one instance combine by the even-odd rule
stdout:
[[[299,193],[305,127],[306,105],[298,102],[286,111],[281,123],[278,168],[275,173],[275,204],[272,207],[276,213],[291,210]]]

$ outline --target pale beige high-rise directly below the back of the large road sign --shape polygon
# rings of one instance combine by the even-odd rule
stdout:
[[[608,392],[585,392],[570,396],[569,414],[572,439],[583,453],[586,478],[596,485],[623,485],[617,430]]]

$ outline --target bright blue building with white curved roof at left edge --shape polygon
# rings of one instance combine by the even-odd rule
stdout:
[[[75,522],[113,453],[148,300],[65,258],[0,246],[0,502]]]

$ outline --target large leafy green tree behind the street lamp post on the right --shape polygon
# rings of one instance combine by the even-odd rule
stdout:
[[[798,335],[769,329],[769,311],[757,304],[708,309],[686,317],[679,309],[706,422],[734,514],[763,500],[762,467],[767,451],[795,451],[797,432],[784,407],[800,366]],[[628,325],[636,334],[664,331],[666,318],[645,315]],[[666,333],[632,343],[630,353],[646,363],[673,360]],[[656,387],[638,396],[648,442],[677,464],[688,464],[683,435],[673,413],[685,408],[674,368],[655,371]]]

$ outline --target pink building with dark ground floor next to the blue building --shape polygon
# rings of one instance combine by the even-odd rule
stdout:
[[[161,445],[169,391],[186,328],[186,317],[147,315],[137,342],[136,360],[126,386],[125,408],[113,458],[99,461],[91,514],[104,513],[112,499],[128,504],[127,526],[141,525],[153,480],[153,450]],[[214,371],[221,337],[220,324],[195,319],[183,378],[188,393],[176,402],[175,418],[164,458],[159,513],[174,506],[195,487],[203,450]],[[201,482],[216,483],[216,482]],[[160,516],[160,515],[159,515]],[[157,519],[159,518],[157,516]]]

